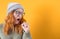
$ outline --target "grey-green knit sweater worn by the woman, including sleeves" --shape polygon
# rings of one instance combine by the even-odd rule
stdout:
[[[6,36],[3,33],[3,26],[4,26],[4,24],[0,24],[0,39],[21,39],[21,38],[22,39],[32,39],[30,32],[29,33],[23,32],[22,36],[16,32],[13,32]]]

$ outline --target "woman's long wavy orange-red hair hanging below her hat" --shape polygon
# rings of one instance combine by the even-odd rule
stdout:
[[[23,29],[21,27],[21,24],[25,21],[25,19],[20,20],[20,23],[18,25],[14,24],[14,16],[13,16],[14,11],[8,14],[5,20],[5,26],[3,28],[3,32],[5,35],[11,34],[11,32],[16,32],[22,35]]]

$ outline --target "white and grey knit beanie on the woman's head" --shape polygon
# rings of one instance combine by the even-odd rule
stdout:
[[[18,9],[18,8],[20,8],[24,11],[23,7],[19,3],[12,2],[12,3],[8,4],[7,14],[9,14],[11,11]]]

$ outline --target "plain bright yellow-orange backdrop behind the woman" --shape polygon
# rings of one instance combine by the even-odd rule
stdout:
[[[60,39],[59,0],[0,0],[0,23],[4,23],[10,2],[24,7],[32,39]]]

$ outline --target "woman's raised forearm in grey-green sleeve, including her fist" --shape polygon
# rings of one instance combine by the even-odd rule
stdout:
[[[23,32],[23,39],[32,39],[30,34],[30,27],[27,22],[22,23]]]

